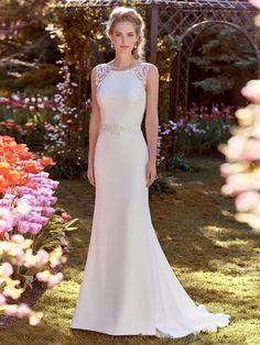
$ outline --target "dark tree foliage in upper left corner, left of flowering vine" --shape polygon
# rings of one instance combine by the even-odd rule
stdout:
[[[46,66],[48,69],[56,68],[55,60],[61,56],[57,41],[45,31],[47,23],[54,20],[48,2],[2,0],[0,15],[2,27],[6,29],[0,40],[1,93],[6,94],[10,90],[26,92],[28,87],[53,87],[56,84],[53,77],[57,76],[54,70],[52,78],[51,74],[47,78],[46,74],[40,74],[33,79],[33,75]],[[29,82],[30,74],[32,78]]]

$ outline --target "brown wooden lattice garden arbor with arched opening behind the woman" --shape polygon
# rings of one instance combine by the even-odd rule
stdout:
[[[113,8],[128,5],[134,1],[93,0],[90,5]],[[236,29],[243,35],[256,52],[258,76],[260,76],[260,54],[257,46],[257,29],[253,18],[257,9],[247,0],[140,0],[139,8],[144,8],[148,26],[149,60],[160,67],[165,76],[162,87],[169,91],[167,105],[170,118],[174,116],[176,105],[187,108],[189,57],[199,34],[208,26],[221,24]],[[158,58],[158,43],[170,37],[175,52],[162,52]],[[164,92],[165,96],[165,92]],[[165,101],[165,100],[163,100]]]

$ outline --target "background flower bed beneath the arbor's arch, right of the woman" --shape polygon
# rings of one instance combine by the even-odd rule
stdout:
[[[236,124],[235,108],[215,104],[209,111],[197,107],[183,111],[178,108],[177,120],[159,126],[158,165],[169,168],[174,155],[210,154],[217,152],[220,143],[230,136],[230,127]]]

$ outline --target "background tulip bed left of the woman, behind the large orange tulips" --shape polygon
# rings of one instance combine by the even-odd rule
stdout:
[[[21,93],[1,97],[0,135],[14,137],[31,151],[52,157],[56,162],[50,167],[53,176],[78,177],[87,171],[89,100],[84,107],[79,120],[77,114],[64,113],[59,93],[53,99]]]

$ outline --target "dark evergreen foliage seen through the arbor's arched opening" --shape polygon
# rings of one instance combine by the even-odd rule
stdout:
[[[203,104],[208,105],[216,101],[216,97],[218,102],[225,101],[232,92],[234,101],[229,104],[245,102],[240,89],[248,77],[256,74],[257,58],[241,32],[224,25],[213,25],[203,31],[189,62],[193,66],[191,99],[196,94],[198,103],[204,100]]]

